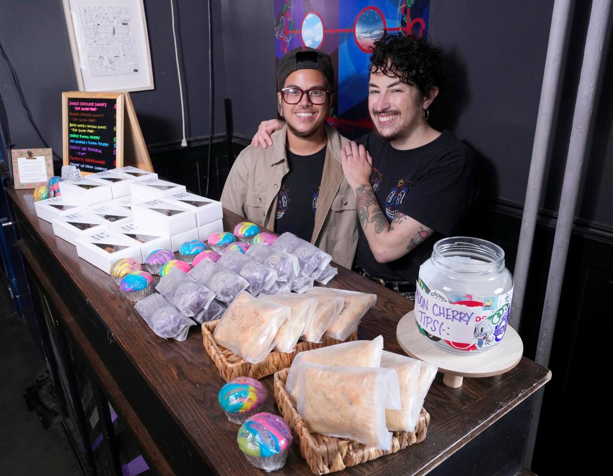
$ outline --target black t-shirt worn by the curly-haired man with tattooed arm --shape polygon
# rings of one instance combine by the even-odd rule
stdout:
[[[371,185],[387,220],[391,222],[401,212],[435,232],[402,258],[378,263],[359,226],[357,266],[387,281],[414,283],[419,266],[432,255],[433,245],[453,236],[474,202],[478,187],[473,152],[449,131],[410,150],[395,149],[375,131],[360,137],[358,143],[364,144],[373,158]]]

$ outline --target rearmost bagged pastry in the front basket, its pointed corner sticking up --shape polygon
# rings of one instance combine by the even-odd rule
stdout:
[[[300,391],[298,378],[300,372],[297,371],[297,368],[302,362],[330,367],[379,367],[382,352],[383,336],[375,337],[373,340],[353,340],[300,352],[292,361],[292,366],[289,367],[289,374],[285,382],[287,393],[292,396],[295,403]]]

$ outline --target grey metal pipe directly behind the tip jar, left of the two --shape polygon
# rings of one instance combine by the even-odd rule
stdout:
[[[568,44],[568,31],[571,19],[571,0],[556,0],[554,12],[551,17],[549,29],[549,44],[547,44],[547,57],[545,59],[545,71],[543,73],[543,86],[541,86],[541,101],[536,118],[535,140],[532,147],[530,161],[530,173],[528,174],[528,186],[524,203],[524,215],[522,217],[522,229],[519,233],[519,245],[514,270],[513,300],[511,303],[510,323],[519,331],[522,319],[522,308],[532,243],[535,236],[536,217],[539,203],[541,202],[541,190],[543,188],[543,175],[547,161],[547,153],[550,143],[551,131],[554,125],[554,112],[557,106],[560,72],[565,63],[565,50]]]

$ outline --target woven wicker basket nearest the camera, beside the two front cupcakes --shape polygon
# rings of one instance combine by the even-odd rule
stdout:
[[[390,451],[363,445],[355,440],[311,433],[308,431],[300,413],[294,408],[291,397],[285,389],[288,373],[289,369],[283,369],[275,374],[275,401],[281,415],[291,426],[294,438],[298,439],[300,455],[307,460],[313,474],[328,474],[343,470],[347,466],[366,463],[371,459],[379,458],[379,456],[403,450],[425,439],[428,423],[430,423],[430,414],[423,408],[414,432],[393,432],[392,449]]]

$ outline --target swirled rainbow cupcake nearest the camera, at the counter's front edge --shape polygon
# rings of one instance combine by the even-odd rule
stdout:
[[[247,461],[267,472],[283,467],[292,439],[292,430],[281,416],[264,412],[246,420],[236,437]]]

